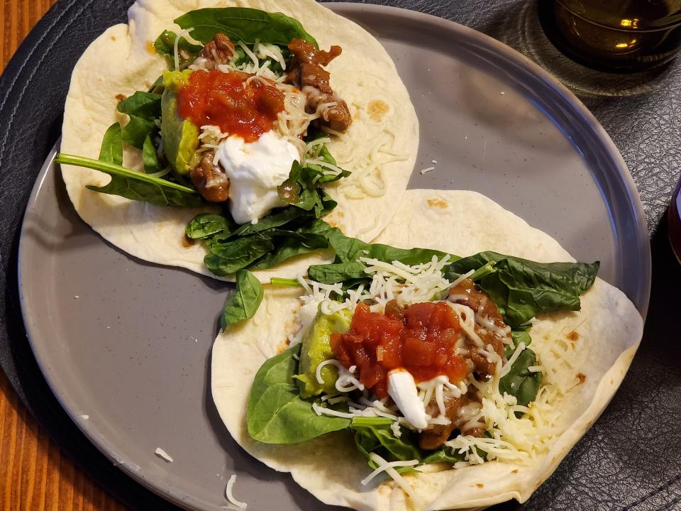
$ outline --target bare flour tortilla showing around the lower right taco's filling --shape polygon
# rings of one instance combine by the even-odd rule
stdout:
[[[458,255],[492,250],[541,262],[573,261],[558,242],[475,192],[407,190],[401,209],[377,242],[411,248],[438,248]],[[370,473],[347,432],[294,445],[261,444],[248,436],[246,403],[261,364],[285,346],[297,328],[299,291],[266,286],[253,320],[218,335],[211,385],[218,412],[231,435],[250,454],[294,480],[316,498],[357,510],[413,510],[411,500],[391,480],[362,486]],[[582,296],[581,312],[545,314],[533,325],[532,348],[541,358],[556,332],[577,329],[580,360],[575,373],[586,380],[563,401],[559,436],[546,456],[530,466],[490,461],[433,473],[406,474],[425,509],[477,508],[512,498],[524,502],[604,410],[619,387],[641,340],[643,320],[620,290],[597,279]],[[548,340],[547,340],[548,339]],[[427,470],[428,468],[426,468]]]

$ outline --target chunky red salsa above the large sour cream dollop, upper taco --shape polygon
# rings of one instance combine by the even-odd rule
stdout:
[[[284,109],[284,94],[262,78],[245,72],[197,70],[179,89],[179,115],[196,126],[219,126],[223,133],[257,141],[270,131]]]

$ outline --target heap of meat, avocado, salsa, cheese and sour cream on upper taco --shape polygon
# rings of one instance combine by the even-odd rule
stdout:
[[[237,224],[287,206],[278,187],[294,162],[321,167],[327,180],[341,177],[335,163],[320,158],[328,133],[309,136],[311,125],[342,133],[352,121],[323,68],[338,55],[340,46],[326,52],[299,38],[280,47],[260,40],[235,44],[216,33],[186,70],[164,75],[163,94],[170,98],[162,101],[168,111],[162,111],[161,142],[171,165],[189,175],[207,201],[229,201]],[[189,62],[190,55],[182,58]],[[192,134],[200,129],[189,144],[179,138],[184,148],[175,143],[177,117],[191,123]],[[179,154],[187,148],[189,154]]]

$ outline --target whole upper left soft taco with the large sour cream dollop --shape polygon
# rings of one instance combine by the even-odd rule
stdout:
[[[315,1],[138,0],[74,68],[57,162],[118,248],[268,282],[333,257],[316,219],[375,238],[418,140],[384,48]]]

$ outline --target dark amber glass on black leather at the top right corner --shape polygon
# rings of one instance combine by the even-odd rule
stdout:
[[[538,0],[548,38],[589,67],[636,71],[681,48],[681,0]]]

